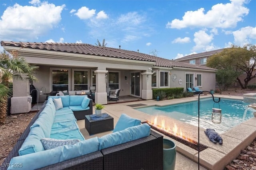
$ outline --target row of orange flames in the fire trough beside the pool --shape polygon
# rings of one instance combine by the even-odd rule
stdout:
[[[165,120],[162,119],[161,120],[161,125],[158,125],[157,124],[157,116],[154,117],[154,121],[148,121],[148,124],[153,126],[153,127],[156,127],[157,129],[160,129],[162,131],[165,131],[166,133],[170,133],[172,135],[175,135],[176,137],[179,137],[179,138],[182,138],[190,143],[194,143],[197,145],[197,142],[194,141],[193,139],[191,139],[190,137],[186,137],[185,135],[183,135],[182,133],[182,130],[179,129],[176,125],[176,123],[174,123],[173,127],[165,127]]]

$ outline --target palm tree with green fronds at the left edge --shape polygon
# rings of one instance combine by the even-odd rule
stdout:
[[[38,66],[30,65],[23,57],[19,57],[17,53],[0,52],[0,124],[4,123],[8,97],[12,94],[12,88],[9,88],[10,80],[33,80],[34,70]]]

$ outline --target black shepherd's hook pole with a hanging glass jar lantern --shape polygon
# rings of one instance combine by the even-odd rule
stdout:
[[[214,104],[215,103],[219,104],[219,102],[220,102],[220,98],[216,102],[214,100],[213,94],[211,92],[209,92],[209,91],[202,91],[198,95],[198,170],[199,170],[199,167],[200,167],[200,163],[199,163],[199,149],[200,149],[200,143],[199,143],[200,94],[202,94],[203,92],[208,92],[208,93],[210,93],[212,95],[212,100],[214,101]],[[213,107],[214,107],[214,104],[213,104]],[[219,104],[219,107],[220,107],[220,104]],[[221,122],[221,109],[220,108],[212,108],[212,122],[213,123],[220,123]]]

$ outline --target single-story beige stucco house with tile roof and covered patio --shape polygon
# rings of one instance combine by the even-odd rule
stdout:
[[[16,51],[39,66],[37,90],[89,90],[95,103],[107,104],[106,87],[121,89],[120,96],[152,99],[152,88],[215,88],[216,69],[110,47],[81,43],[29,43],[1,41],[6,51]],[[13,83],[13,97],[28,96],[28,82]],[[39,96],[43,102],[45,96]]]

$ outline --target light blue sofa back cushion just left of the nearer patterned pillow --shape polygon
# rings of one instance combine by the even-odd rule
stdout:
[[[32,128],[19,149],[19,155],[43,151],[44,146],[41,143],[41,139],[44,137],[45,135],[41,127]]]

